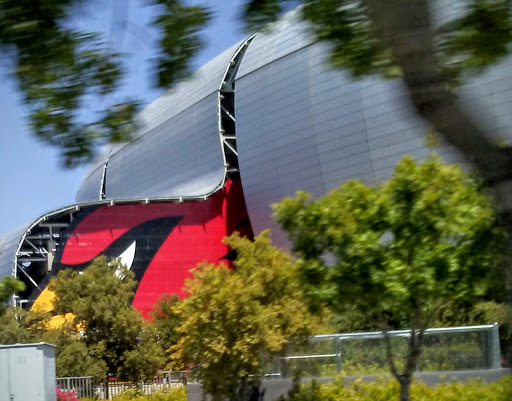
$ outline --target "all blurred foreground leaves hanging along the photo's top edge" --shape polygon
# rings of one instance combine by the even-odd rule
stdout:
[[[204,46],[201,32],[212,18],[202,3],[146,4],[158,10],[151,23],[161,31],[154,60],[157,86],[170,87],[190,73],[191,60]],[[503,59],[512,40],[509,0],[458,3],[462,11],[433,34],[438,68],[452,83]],[[253,31],[299,4],[316,37],[333,45],[334,66],[356,76],[400,74],[367,3],[250,0],[241,15]],[[85,6],[81,0],[0,0],[0,51],[19,84],[32,132],[61,149],[68,166],[89,161],[105,142],[129,140],[138,108],[135,99],[112,100],[125,74],[123,57],[101,34],[73,27],[71,21]],[[393,3],[388,12],[402,12],[402,7]]]

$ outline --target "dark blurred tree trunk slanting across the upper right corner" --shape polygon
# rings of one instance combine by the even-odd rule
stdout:
[[[457,103],[440,72],[428,0],[364,0],[384,43],[403,72],[418,114],[459,149],[493,192],[505,213],[512,210],[512,150],[498,146]],[[504,224],[512,231],[512,222]]]

